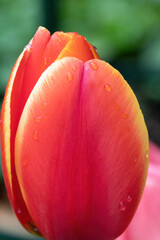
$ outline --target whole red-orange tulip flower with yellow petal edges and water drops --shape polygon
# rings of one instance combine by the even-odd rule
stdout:
[[[133,91],[84,37],[40,27],[12,70],[1,120],[6,188],[29,232],[124,231],[146,181],[148,133]]]

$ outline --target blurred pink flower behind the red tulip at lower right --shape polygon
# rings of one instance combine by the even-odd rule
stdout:
[[[126,231],[117,240],[160,239],[160,149],[150,142],[146,186],[138,210]]]

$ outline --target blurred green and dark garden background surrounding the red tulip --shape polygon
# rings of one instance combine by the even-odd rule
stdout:
[[[76,31],[96,46],[131,85],[160,146],[160,0],[0,0],[0,107],[11,69],[40,25]],[[16,221],[10,211],[0,164],[0,239],[37,239],[18,223],[6,230]]]

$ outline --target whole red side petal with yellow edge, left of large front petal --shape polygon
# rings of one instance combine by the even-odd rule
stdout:
[[[40,27],[34,38],[24,48],[11,73],[2,106],[2,165],[3,172],[6,172],[4,178],[9,199],[19,221],[29,232],[36,235],[39,233],[28,213],[17,181],[14,142],[26,100],[43,71],[40,67],[41,55],[49,38],[49,31]]]

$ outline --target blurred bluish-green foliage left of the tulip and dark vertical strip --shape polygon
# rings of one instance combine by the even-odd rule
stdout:
[[[42,24],[41,0],[0,0],[0,95],[25,44]]]

